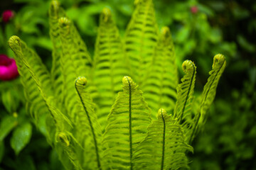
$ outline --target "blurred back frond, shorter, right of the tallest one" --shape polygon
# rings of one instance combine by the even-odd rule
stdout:
[[[166,108],[168,112],[174,110],[177,85],[174,44],[169,28],[164,27],[156,45],[151,69],[142,86],[145,100],[149,103],[152,113],[159,108]]]

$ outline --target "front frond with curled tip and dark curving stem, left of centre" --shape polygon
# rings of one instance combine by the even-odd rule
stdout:
[[[87,79],[79,77],[75,81],[75,89],[78,92],[80,104],[78,108],[78,121],[76,123],[77,139],[84,147],[82,163],[85,169],[102,169],[102,131],[97,122],[94,104],[90,94],[85,91]]]

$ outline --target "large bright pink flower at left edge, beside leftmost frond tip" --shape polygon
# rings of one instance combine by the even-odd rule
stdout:
[[[0,79],[3,81],[18,77],[18,69],[14,59],[0,55]]]

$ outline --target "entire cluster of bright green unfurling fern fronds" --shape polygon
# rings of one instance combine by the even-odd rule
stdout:
[[[73,22],[52,1],[50,71],[20,38],[9,39],[26,110],[65,169],[189,168],[186,154],[206,123],[225,57],[215,55],[203,93],[195,97],[194,62],[183,62],[178,84],[169,28],[159,33],[152,0],[134,6],[123,40],[110,9],[103,8],[91,57]]]

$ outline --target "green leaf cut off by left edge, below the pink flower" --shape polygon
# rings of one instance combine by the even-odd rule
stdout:
[[[17,125],[17,120],[11,115],[7,115],[1,120],[0,124],[0,142],[11,132],[11,130]]]

